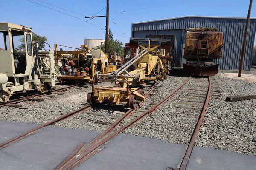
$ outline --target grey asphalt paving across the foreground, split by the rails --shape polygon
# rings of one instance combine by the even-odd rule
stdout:
[[[0,142],[19,135],[36,124],[0,120]],[[0,150],[0,170],[51,170],[81,142],[90,143],[100,133],[45,127],[35,135]],[[119,134],[105,144],[78,170],[166,170],[177,168],[186,146],[141,136]],[[212,148],[195,147],[188,170],[255,170],[256,156]]]

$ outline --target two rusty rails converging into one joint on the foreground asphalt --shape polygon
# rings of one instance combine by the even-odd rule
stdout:
[[[189,78],[190,79],[190,78]],[[189,79],[186,80],[186,82],[189,81]],[[186,82],[183,83],[183,85],[186,84]],[[121,116],[115,123],[113,123],[110,127],[108,127],[107,130],[105,130],[101,135],[99,135],[96,139],[93,140],[89,145],[87,145],[84,149],[81,150],[83,147],[83,143],[81,143],[69,156],[67,156],[66,159],[64,159],[60,164],[58,164],[54,170],[73,170],[76,167],[78,167],[80,164],[82,164],[84,161],[89,159],[91,156],[98,153],[100,150],[102,150],[102,144],[105,144],[108,140],[112,139],[114,136],[119,134],[120,132],[124,131],[128,127],[131,127],[134,125],[134,123],[141,121],[146,116],[157,110],[163,103],[167,102],[170,98],[172,98],[180,89],[183,87],[181,85],[179,88],[177,88],[176,91],[174,91],[171,95],[163,99],[161,102],[157,103],[153,107],[151,107],[149,110],[141,113],[140,115],[136,115],[136,118],[132,119],[130,122],[127,122],[122,127],[117,127],[120,125],[121,122],[123,122],[126,118],[131,116],[132,113],[134,113],[134,109],[130,109],[128,112],[126,112],[123,116]],[[153,90],[154,86],[152,86],[149,91],[145,94],[145,96],[150,95],[151,91]],[[140,103],[139,103],[140,105]]]

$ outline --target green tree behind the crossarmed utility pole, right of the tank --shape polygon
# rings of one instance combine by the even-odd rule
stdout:
[[[102,51],[106,51],[105,49],[105,42],[102,43],[99,46],[96,46],[93,49],[102,49]],[[121,56],[123,56],[123,51],[124,51],[124,47],[122,46],[123,43],[120,42],[119,40],[114,40],[114,36],[113,33],[111,32],[111,30],[109,29],[108,31],[108,54],[113,55],[113,51],[116,51],[116,55],[119,54]]]

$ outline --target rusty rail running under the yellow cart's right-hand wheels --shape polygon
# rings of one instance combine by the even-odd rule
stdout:
[[[152,87],[147,91],[147,93],[144,95],[145,98],[148,97],[148,95],[153,91],[157,83],[154,83]],[[140,101],[137,105],[142,105],[143,101]],[[135,108],[137,108],[137,105]],[[92,147],[94,144],[96,144],[100,139],[102,139],[104,136],[106,136],[108,133],[110,133],[114,127],[118,126],[124,119],[127,119],[129,116],[131,116],[132,113],[134,113],[135,109],[129,109],[125,114],[123,114],[116,122],[114,122],[108,129],[106,129],[100,136],[98,136],[96,139],[94,139],[87,147]],[[83,158],[83,161],[89,159],[94,154],[87,155]],[[75,155],[73,155],[73,158]],[[67,159],[67,158],[66,158]],[[65,159],[65,160],[66,160]],[[65,165],[67,165],[71,159],[67,159],[67,161],[61,161],[60,164],[58,164],[53,170],[61,170]]]

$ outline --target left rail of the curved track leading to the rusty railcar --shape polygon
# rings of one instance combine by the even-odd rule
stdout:
[[[189,77],[190,79],[191,77]],[[103,134],[108,134],[107,132],[110,130],[109,128],[102,133],[102,135],[100,135],[100,137],[102,137],[101,141],[99,141],[99,137],[95,140],[93,140],[93,142],[91,142],[86,148],[84,148],[84,150],[81,150],[81,152],[79,153],[79,155],[76,155],[73,157],[73,159],[66,163],[64,166],[60,167],[58,170],[73,170],[76,167],[78,167],[80,164],[82,164],[85,160],[87,160],[88,158],[90,158],[90,156],[88,156],[90,153],[95,152],[95,150],[100,147],[102,144],[104,144],[105,142],[107,142],[108,140],[112,139],[114,136],[116,136],[117,134],[119,134],[120,132],[122,132],[123,130],[125,130],[128,127],[131,127],[134,125],[134,123],[137,123],[139,121],[141,121],[142,119],[144,119],[146,116],[148,116],[149,114],[151,114],[152,112],[154,112],[155,110],[157,110],[157,108],[159,108],[161,105],[163,105],[163,103],[167,102],[169,99],[171,99],[175,94],[177,94],[178,91],[180,91],[180,89],[189,81],[189,79],[187,79],[179,88],[177,88],[172,94],[170,94],[168,97],[166,97],[165,99],[163,99],[161,102],[157,103],[156,105],[154,105],[151,109],[149,109],[148,111],[145,111],[144,113],[142,113],[140,116],[138,116],[137,118],[131,120],[130,122],[128,122],[126,125],[122,126],[121,128],[119,128],[118,130],[116,130],[115,132],[109,134],[107,137],[105,137],[103,139]],[[122,117],[125,117],[125,115],[123,115]],[[112,126],[111,126],[112,127]],[[112,129],[111,129],[112,130]],[[85,159],[87,158],[87,159]]]

